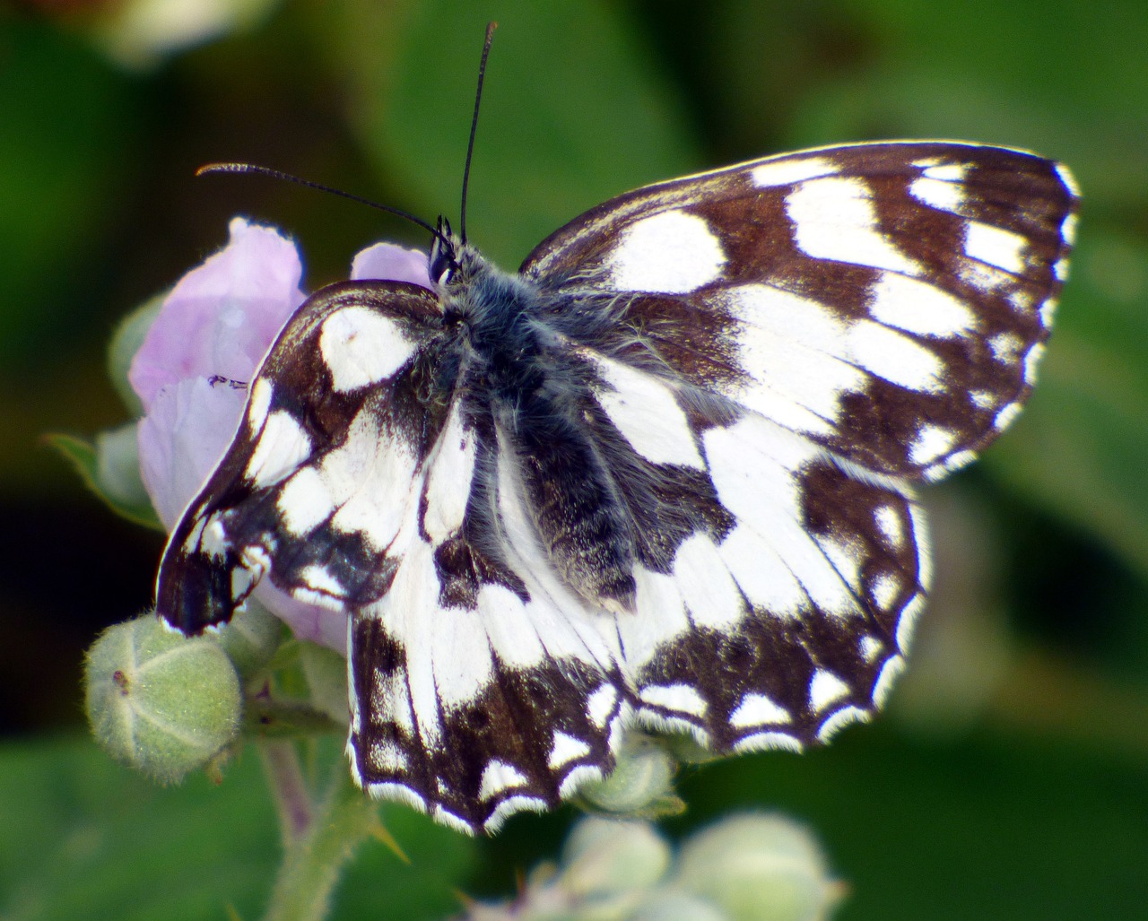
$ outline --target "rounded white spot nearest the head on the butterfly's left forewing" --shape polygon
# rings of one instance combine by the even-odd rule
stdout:
[[[336,393],[386,380],[414,354],[398,323],[365,307],[348,307],[323,322],[319,351]]]

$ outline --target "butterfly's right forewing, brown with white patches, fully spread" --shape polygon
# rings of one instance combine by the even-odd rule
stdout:
[[[866,467],[936,478],[1031,389],[1071,246],[1065,177],[941,142],[768,157],[607,202],[521,271],[616,292],[615,348]]]

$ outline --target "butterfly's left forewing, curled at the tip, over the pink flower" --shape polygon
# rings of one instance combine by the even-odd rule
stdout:
[[[419,393],[437,299],[405,284],[333,285],[279,334],[223,460],[176,526],[156,606],[185,633],[227,621],[261,578],[350,609],[382,595],[414,474],[444,413]]]

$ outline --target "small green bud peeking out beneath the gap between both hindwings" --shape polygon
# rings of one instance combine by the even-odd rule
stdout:
[[[674,795],[676,764],[657,742],[631,734],[608,777],[579,789],[588,805],[605,812],[652,818],[681,812]]]

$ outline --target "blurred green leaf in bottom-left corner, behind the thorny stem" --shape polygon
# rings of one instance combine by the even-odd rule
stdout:
[[[342,743],[320,761],[346,771]],[[200,921],[262,916],[281,858],[259,759],[223,783],[157,788],[82,738],[0,746],[0,916]],[[335,895],[340,919],[457,913],[475,842],[405,807],[383,822],[410,857],[369,841]]]

